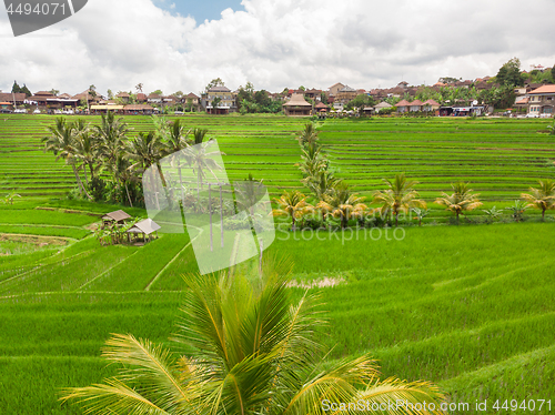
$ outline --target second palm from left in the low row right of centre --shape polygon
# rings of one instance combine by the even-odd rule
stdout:
[[[364,216],[367,210],[367,206],[362,203],[364,199],[353,193],[347,183],[341,182],[331,194],[324,194],[324,200],[319,203],[319,208],[326,211],[327,215],[341,219],[341,227],[345,229],[350,219]]]

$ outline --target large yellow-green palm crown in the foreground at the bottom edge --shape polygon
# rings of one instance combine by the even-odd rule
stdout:
[[[323,323],[316,297],[293,303],[291,264],[263,261],[219,275],[185,276],[176,341],[169,350],[127,334],[107,342],[103,357],[120,366],[103,384],[65,391],[88,414],[325,414],[323,402],[366,405],[398,399],[440,407],[427,382],[380,379],[370,355],[325,364],[314,341]],[[351,411],[350,413],[354,413]],[[408,413],[393,409],[390,413]],[[413,411],[412,414],[440,414]]]

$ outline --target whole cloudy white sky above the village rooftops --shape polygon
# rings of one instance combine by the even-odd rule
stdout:
[[[524,11],[524,12],[523,12]],[[0,90],[70,94],[231,90],[370,90],[401,81],[495,75],[555,64],[555,1],[89,0],[73,17],[18,38],[0,9]]]

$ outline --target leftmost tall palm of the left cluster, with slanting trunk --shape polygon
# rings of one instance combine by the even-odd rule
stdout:
[[[64,118],[59,117],[56,119],[54,125],[47,126],[50,133],[42,138],[44,143],[44,151],[51,151],[56,155],[56,160],[64,159],[65,163],[71,165],[75,181],[79,186],[79,192],[85,194],[87,198],[92,199],[84,189],[81,178],[77,170],[77,151],[75,151],[75,134],[73,123],[68,123]]]

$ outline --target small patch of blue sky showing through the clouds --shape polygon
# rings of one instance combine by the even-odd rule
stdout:
[[[154,3],[163,10],[180,13],[183,17],[191,16],[196,24],[204,20],[219,20],[221,12],[228,8],[233,11],[244,10],[241,0],[154,0]]]

